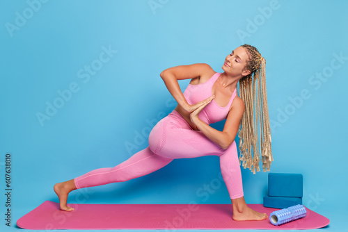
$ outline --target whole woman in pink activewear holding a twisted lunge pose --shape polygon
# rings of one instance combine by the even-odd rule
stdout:
[[[244,168],[251,169],[253,165],[255,173],[255,168],[258,169],[258,155],[255,155],[255,151],[258,149],[255,147],[255,136],[252,135],[255,135],[257,130],[253,129],[250,119],[244,119],[244,115],[250,117],[250,113],[254,112],[250,106],[244,104],[244,101],[247,103],[251,101],[251,96],[248,96],[251,93],[248,90],[251,90],[252,74],[254,72],[257,74],[256,77],[254,74],[254,80],[260,79],[258,72],[261,68],[264,70],[264,63],[264,58],[255,47],[244,44],[226,57],[222,66],[223,73],[214,72],[207,64],[182,65],[161,72],[166,88],[178,104],[173,112],[154,126],[149,135],[149,147],[116,167],[95,169],[70,181],[56,183],[54,191],[58,195],[61,210],[73,210],[67,206],[68,194],[72,190],[144,176],[168,165],[174,158],[210,155],[220,157],[221,173],[232,201],[232,219],[237,221],[267,219],[266,213],[248,208],[244,201],[242,175],[235,144],[235,136],[242,120],[242,125],[245,126],[244,130],[239,130],[239,135],[244,136],[241,141],[246,144],[248,152],[244,146],[242,151],[246,154],[241,160],[244,162]],[[191,78],[191,81],[182,93],[177,81],[187,78]],[[237,96],[238,82],[241,88],[244,86],[241,92],[244,101]],[[265,94],[262,99],[267,103]],[[258,102],[260,103],[260,100]],[[253,101],[251,104],[253,105]],[[263,134],[270,135],[267,105],[264,111],[266,117],[262,120]],[[222,119],[226,119],[223,131],[209,126],[210,123]],[[252,131],[253,134],[248,131]],[[269,142],[270,136],[266,136],[262,144],[264,169],[269,169],[272,160]],[[250,154],[251,145],[254,148],[253,158]]]

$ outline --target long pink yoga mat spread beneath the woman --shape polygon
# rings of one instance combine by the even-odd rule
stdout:
[[[231,204],[68,204],[65,212],[59,204],[45,201],[17,221],[23,229],[317,229],[330,222],[307,210],[306,217],[274,226],[264,221],[237,222],[232,219]],[[253,210],[269,215],[277,208],[248,204]]]

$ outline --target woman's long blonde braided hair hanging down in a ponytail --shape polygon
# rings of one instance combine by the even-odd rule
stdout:
[[[255,170],[260,172],[260,156],[263,172],[270,171],[273,161],[266,90],[266,60],[255,47],[248,44],[244,44],[242,47],[249,55],[245,68],[251,70],[251,74],[243,76],[239,80],[237,88],[239,97],[246,105],[238,131],[239,165],[242,161],[243,167],[250,169],[255,174]],[[251,149],[253,155],[251,155]]]

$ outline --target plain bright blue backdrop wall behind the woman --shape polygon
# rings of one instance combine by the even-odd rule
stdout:
[[[12,226],[4,226],[1,216],[1,231],[16,229],[17,219],[43,201],[58,202],[54,183],[113,167],[147,147],[151,126],[146,120],[158,121],[176,105],[159,76],[162,70],[207,63],[222,72],[224,58],[245,43],[267,60],[275,160],[271,172],[303,174],[303,205],[331,219],[325,231],[344,228],[347,1],[84,0],[39,5],[6,0],[0,5],[1,176],[8,153],[13,167]],[[103,47],[114,50],[104,63],[98,61]],[[89,79],[84,70],[88,65],[96,69]],[[182,90],[188,83],[180,81]],[[76,91],[58,102],[58,91],[71,85]],[[40,123],[38,113],[46,114],[47,102],[54,101],[61,108]],[[223,122],[212,126],[222,130]],[[134,147],[127,149],[129,144]],[[202,189],[216,183],[219,172],[217,156],[178,159],[138,179],[73,191],[69,201],[230,204],[223,182],[213,193]],[[242,168],[248,204],[262,204],[267,175]],[[4,179],[0,182],[4,191]],[[87,197],[81,198],[84,191]],[[0,200],[3,215],[4,194]]]

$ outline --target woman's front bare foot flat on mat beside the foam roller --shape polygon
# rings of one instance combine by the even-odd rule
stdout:
[[[259,213],[249,208],[244,201],[244,197],[232,199],[232,208],[232,219],[235,221],[262,221],[268,217],[266,213]]]

